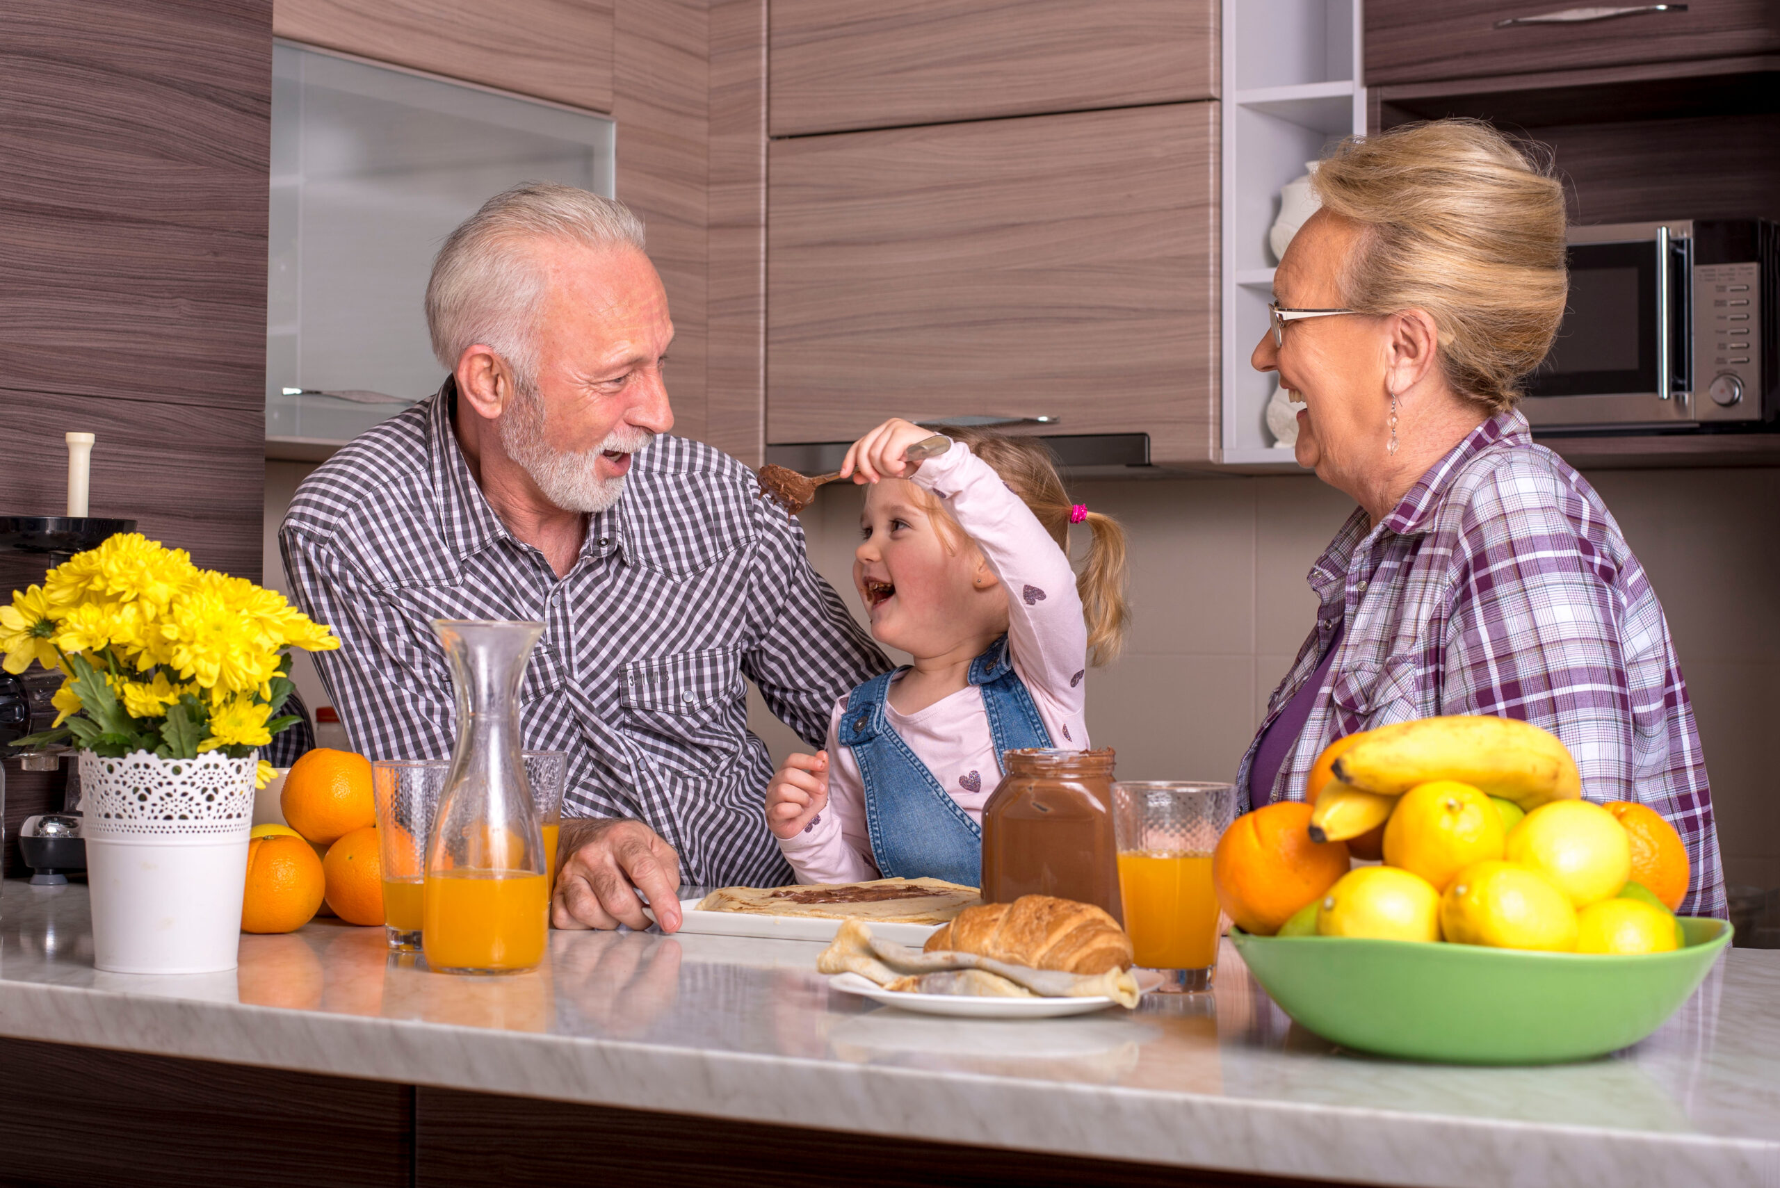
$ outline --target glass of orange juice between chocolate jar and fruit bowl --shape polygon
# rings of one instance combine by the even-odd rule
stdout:
[[[1112,832],[1136,962],[1162,992],[1209,991],[1218,967],[1212,850],[1235,820],[1235,784],[1120,781]]]

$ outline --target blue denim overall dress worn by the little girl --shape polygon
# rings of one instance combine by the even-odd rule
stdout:
[[[945,879],[983,886],[983,827],[958,807],[927,765],[910,751],[885,717],[890,678],[865,681],[847,697],[835,740],[853,751],[865,784],[865,823],[872,857],[885,879]],[[970,683],[983,690],[990,715],[995,765],[1002,752],[1050,747],[1050,731],[1032,704],[1032,694],[1007,660],[1007,637],[970,662]]]

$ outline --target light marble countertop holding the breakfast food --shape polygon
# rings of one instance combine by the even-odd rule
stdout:
[[[908,1015],[819,944],[552,932],[454,978],[381,928],[244,935],[240,969],[93,969],[87,889],[0,893],[0,1035],[942,1142],[1380,1184],[1780,1184],[1780,951],[1661,1031],[1545,1069],[1415,1065],[1296,1028],[1225,946],[1214,994],[1054,1021]]]

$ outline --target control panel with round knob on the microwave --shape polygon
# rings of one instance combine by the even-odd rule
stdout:
[[[1693,391],[1702,421],[1762,418],[1760,265],[1693,267]]]

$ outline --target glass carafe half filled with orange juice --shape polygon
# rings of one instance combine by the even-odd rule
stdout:
[[[427,841],[422,950],[441,973],[522,973],[545,955],[550,877],[525,777],[520,679],[541,622],[436,619],[457,743]]]

